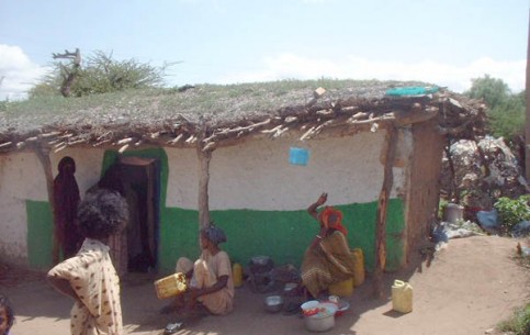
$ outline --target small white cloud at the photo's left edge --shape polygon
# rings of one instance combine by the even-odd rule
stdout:
[[[0,100],[25,99],[27,90],[48,69],[33,62],[19,46],[0,44]]]

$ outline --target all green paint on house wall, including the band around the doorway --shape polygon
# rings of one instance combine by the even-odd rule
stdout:
[[[126,152],[127,155],[160,160],[160,230],[158,268],[160,272],[174,270],[179,257],[199,256],[199,213],[194,210],[166,208],[168,158],[163,149]],[[117,157],[106,152],[103,170]],[[352,203],[337,206],[343,213],[351,248],[361,248],[365,268],[371,271],[375,259],[375,222],[377,202]],[[52,266],[52,211],[47,202],[26,201],[29,263],[34,268]],[[305,248],[318,233],[318,223],[305,211],[212,211],[212,220],[222,227],[228,241],[222,247],[233,261],[247,265],[252,256],[270,256],[275,265],[300,266]],[[386,224],[386,270],[401,267],[404,255],[402,238],[405,227],[403,201],[388,202]]]

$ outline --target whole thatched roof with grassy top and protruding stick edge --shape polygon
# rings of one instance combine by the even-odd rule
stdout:
[[[439,131],[469,137],[482,130],[484,104],[436,89],[388,96],[421,82],[284,80],[262,83],[126,91],[84,98],[34,98],[0,110],[0,153],[38,145],[195,147],[229,145],[247,136],[301,139],[346,135],[437,118]]]

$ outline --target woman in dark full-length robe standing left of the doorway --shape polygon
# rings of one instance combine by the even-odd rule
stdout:
[[[74,177],[76,161],[71,157],[63,157],[57,168],[59,174],[54,179],[54,264],[59,261],[59,247],[63,249],[63,258],[66,259],[76,255],[82,243],[82,237],[75,224],[80,199],[79,187]]]

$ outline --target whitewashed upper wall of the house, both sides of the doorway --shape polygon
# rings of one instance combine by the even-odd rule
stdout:
[[[297,137],[251,139],[213,153],[210,209],[300,210],[329,193],[329,204],[370,202],[379,197],[384,132],[360,133],[301,143]],[[311,152],[307,166],[289,164],[291,146]],[[407,161],[411,136],[399,136],[398,155]],[[103,149],[65,149],[50,157],[54,177],[64,156],[76,160],[81,197],[101,175]],[[195,149],[167,149],[167,206],[198,208],[199,165]],[[406,182],[406,165],[394,168],[392,197]],[[43,167],[34,153],[0,155],[0,256],[26,259],[25,201],[47,201]]]

